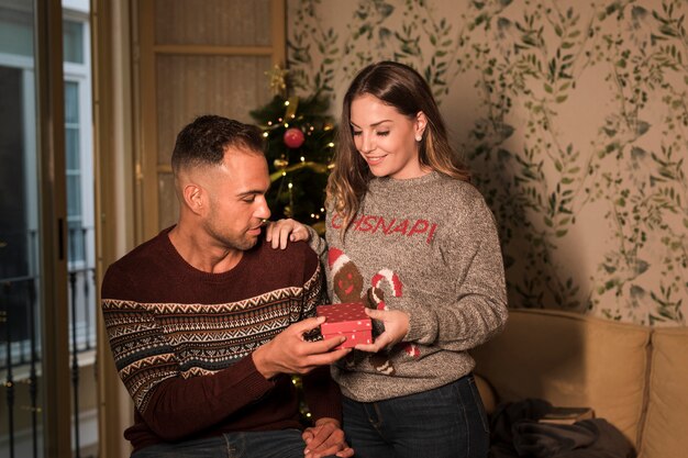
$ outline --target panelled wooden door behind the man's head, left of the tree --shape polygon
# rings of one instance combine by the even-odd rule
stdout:
[[[140,0],[137,7],[141,243],[177,221],[170,157],[181,127],[206,113],[252,122],[248,112],[269,101],[265,72],[284,65],[286,13],[285,0]]]

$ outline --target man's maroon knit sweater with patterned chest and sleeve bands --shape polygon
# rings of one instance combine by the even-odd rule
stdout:
[[[258,244],[223,273],[187,264],[170,228],[108,269],[102,311],[116,369],[135,405],[135,449],[235,431],[299,428],[289,376],[266,380],[251,354],[314,315],[324,288],[303,243]],[[314,418],[341,418],[326,367],[303,378]]]

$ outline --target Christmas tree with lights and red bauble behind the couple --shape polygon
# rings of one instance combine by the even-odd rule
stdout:
[[[277,66],[267,75],[273,100],[251,115],[266,137],[271,219],[293,217],[322,232],[325,186],[334,153],[330,101],[319,92],[307,98],[289,94],[288,71]]]

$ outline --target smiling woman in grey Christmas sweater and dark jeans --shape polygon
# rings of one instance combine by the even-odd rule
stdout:
[[[343,102],[328,182],[328,287],[360,302],[375,342],[333,367],[357,457],[486,457],[488,424],[470,348],[507,321],[493,216],[450,146],[432,92],[411,67],[364,68]],[[273,247],[310,239],[270,224]]]

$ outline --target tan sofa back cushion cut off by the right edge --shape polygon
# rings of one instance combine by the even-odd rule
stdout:
[[[658,328],[652,336],[650,400],[641,457],[688,454],[688,329]]]

